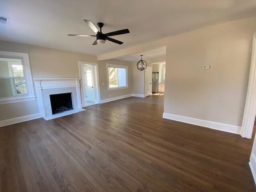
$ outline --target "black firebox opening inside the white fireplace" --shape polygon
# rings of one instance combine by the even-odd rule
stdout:
[[[50,95],[50,102],[52,107],[52,114],[74,109],[72,93],[52,94]]]

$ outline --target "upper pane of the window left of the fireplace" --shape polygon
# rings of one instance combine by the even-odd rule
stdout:
[[[0,58],[0,77],[24,77],[21,59]]]

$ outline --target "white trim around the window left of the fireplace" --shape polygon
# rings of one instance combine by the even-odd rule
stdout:
[[[34,91],[34,86],[33,86],[33,80],[32,80],[32,74],[31,74],[28,54],[27,53],[18,53],[18,52],[0,51],[0,57],[15,58],[15,59],[22,60],[22,65],[24,67],[24,76],[25,76],[24,78],[26,80],[26,86],[27,86],[27,92],[28,92],[28,94],[26,94],[26,95],[0,98],[0,104],[8,104],[8,103],[16,103],[16,102],[35,100],[36,96],[35,96],[35,91]]]

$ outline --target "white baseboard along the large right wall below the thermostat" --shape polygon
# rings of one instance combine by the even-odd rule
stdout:
[[[179,121],[179,122],[184,122],[184,123],[188,123],[188,124],[203,126],[203,127],[207,127],[207,128],[211,128],[211,129],[220,130],[220,131],[235,133],[235,134],[240,134],[240,130],[241,130],[240,126],[218,123],[218,122],[213,122],[213,121],[207,121],[207,120],[202,120],[202,119],[196,119],[196,118],[191,118],[191,117],[185,117],[185,116],[180,116],[180,115],[174,115],[174,114],[169,114],[169,113],[163,113],[163,118],[174,120],[174,121]]]

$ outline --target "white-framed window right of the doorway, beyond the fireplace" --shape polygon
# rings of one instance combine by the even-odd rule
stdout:
[[[127,88],[127,66],[107,64],[108,89]]]

